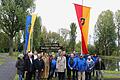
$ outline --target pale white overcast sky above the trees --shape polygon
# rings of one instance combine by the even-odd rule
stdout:
[[[70,30],[70,24],[75,22],[78,42],[81,40],[81,34],[73,3],[82,4],[82,0],[36,0],[35,13],[41,16],[42,25],[47,31],[59,32],[60,28]],[[93,44],[94,26],[99,14],[108,9],[116,12],[120,9],[120,0],[83,0],[83,5],[91,7],[88,42]]]

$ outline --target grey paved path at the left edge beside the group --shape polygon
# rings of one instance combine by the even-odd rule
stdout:
[[[0,54],[0,57],[4,57],[6,59],[6,62],[0,65],[0,80],[14,80],[16,74],[16,61],[8,57],[6,54]]]

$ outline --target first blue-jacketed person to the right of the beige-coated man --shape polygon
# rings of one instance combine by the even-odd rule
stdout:
[[[75,58],[74,54],[71,53],[70,58],[68,59],[68,67],[71,70],[71,72],[73,73],[72,76],[72,80],[76,80],[76,66],[77,66],[77,59]],[[70,73],[71,75],[71,73]]]

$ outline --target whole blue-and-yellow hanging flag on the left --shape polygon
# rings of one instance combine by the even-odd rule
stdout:
[[[25,53],[32,51],[33,28],[36,20],[36,15],[28,15],[26,17],[26,30],[25,30]]]

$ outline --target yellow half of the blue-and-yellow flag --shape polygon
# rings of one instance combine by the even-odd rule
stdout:
[[[36,16],[37,16],[36,14],[32,15],[31,27],[30,27],[30,30],[29,30],[29,40],[28,40],[27,51],[31,51],[32,50],[33,28],[34,28]]]

